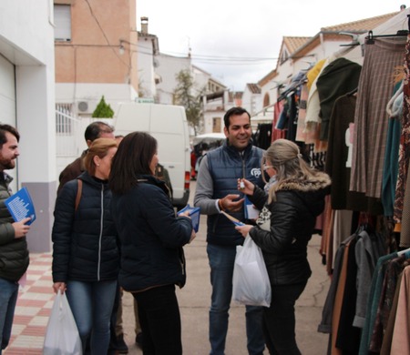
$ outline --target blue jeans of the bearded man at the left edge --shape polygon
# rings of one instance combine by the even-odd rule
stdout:
[[[18,283],[0,278],[0,355],[10,341],[17,296]]]

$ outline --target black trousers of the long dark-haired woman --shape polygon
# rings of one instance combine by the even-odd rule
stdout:
[[[181,355],[181,325],[175,286],[133,293],[144,340],[144,355]]]

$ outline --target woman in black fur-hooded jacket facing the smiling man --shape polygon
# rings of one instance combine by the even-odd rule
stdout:
[[[276,177],[268,194],[243,180],[241,189],[261,209],[257,225],[236,227],[261,248],[272,285],[272,301],[263,313],[263,333],[271,354],[297,355],[294,304],[312,271],[307,245],[316,218],[323,212],[331,180],[305,163],[299,147],[286,139],[274,141],[263,170]],[[269,172],[269,171],[268,171]],[[238,182],[240,188],[240,181]]]

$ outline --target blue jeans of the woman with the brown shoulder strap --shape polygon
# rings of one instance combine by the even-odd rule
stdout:
[[[116,291],[117,280],[67,281],[67,299],[76,320],[84,353],[87,339],[91,337],[91,354],[107,354],[110,318]]]

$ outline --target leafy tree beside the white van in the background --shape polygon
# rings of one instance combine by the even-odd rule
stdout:
[[[189,70],[181,70],[175,77],[178,85],[174,90],[174,102],[176,105],[185,107],[188,124],[194,129],[196,135],[202,117],[201,96],[204,90],[198,93]],[[198,94],[194,95],[195,92]]]

